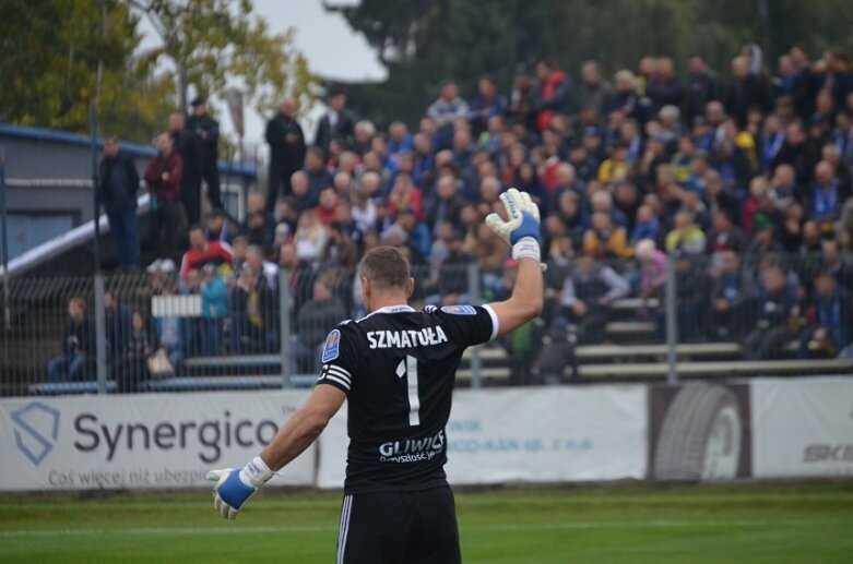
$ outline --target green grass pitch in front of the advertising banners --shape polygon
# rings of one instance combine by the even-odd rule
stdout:
[[[334,561],[341,494],[0,496],[0,562]],[[457,492],[463,560],[853,562],[853,481]]]

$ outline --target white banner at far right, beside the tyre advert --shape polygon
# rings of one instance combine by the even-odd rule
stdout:
[[[756,380],[756,478],[853,476],[853,379]]]

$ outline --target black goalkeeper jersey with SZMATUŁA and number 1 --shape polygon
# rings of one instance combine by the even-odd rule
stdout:
[[[489,307],[382,308],[329,334],[319,384],[347,395],[346,493],[446,484],[453,381],[462,352],[495,338]]]

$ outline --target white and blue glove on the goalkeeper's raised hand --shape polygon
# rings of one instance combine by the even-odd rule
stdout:
[[[500,201],[503,202],[509,220],[505,221],[498,214],[489,214],[486,225],[512,247],[514,260],[534,259],[541,267],[544,266],[540,249],[540,207],[533,203],[530,194],[514,188],[500,194]]]

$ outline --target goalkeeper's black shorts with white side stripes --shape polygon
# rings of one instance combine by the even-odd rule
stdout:
[[[454,564],[461,560],[449,485],[344,495],[337,564]]]

